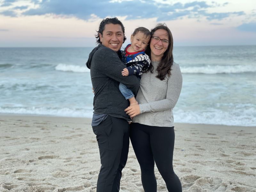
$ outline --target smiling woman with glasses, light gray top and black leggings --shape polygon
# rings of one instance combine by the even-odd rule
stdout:
[[[168,191],[180,192],[181,183],[172,167],[174,124],[172,109],[182,86],[180,67],[173,62],[172,33],[158,24],[151,30],[146,54],[151,60],[150,72],[143,73],[136,100],[139,105],[125,109],[133,117],[130,139],[141,169],[145,192],[156,192],[154,161]]]

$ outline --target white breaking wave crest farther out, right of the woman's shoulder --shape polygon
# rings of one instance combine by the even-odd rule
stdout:
[[[220,74],[220,73],[245,73],[256,72],[256,68],[253,65],[207,65],[207,66],[195,66],[184,67],[180,66],[182,73],[203,73],[203,74]]]

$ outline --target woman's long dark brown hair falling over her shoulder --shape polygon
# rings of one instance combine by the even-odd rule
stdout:
[[[164,52],[164,55],[156,68],[156,71],[157,71],[156,77],[160,80],[164,80],[164,78],[167,74],[168,74],[168,76],[171,75],[171,67],[173,64],[173,55],[172,55],[173,38],[172,38],[172,33],[171,33],[170,29],[165,24],[161,24],[161,23],[157,24],[155,28],[151,29],[151,36],[153,36],[155,31],[158,29],[164,29],[168,33],[169,42],[170,42],[168,44],[167,50]],[[152,40],[152,38],[151,38],[151,40]],[[149,56],[149,58],[151,58],[151,49],[150,49],[149,45],[147,46],[145,53]],[[150,63],[150,72],[153,73],[153,71],[154,71],[154,67]]]

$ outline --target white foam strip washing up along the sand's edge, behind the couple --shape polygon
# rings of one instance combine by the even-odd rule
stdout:
[[[26,115],[48,115],[66,117],[92,118],[93,109],[85,108],[46,108],[46,107],[0,107],[0,113],[26,114]],[[233,111],[221,111],[209,108],[202,111],[173,110],[174,122],[195,124],[222,124],[237,126],[256,126],[255,108]]]

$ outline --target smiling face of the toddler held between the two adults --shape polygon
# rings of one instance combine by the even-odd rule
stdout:
[[[150,40],[150,36],[145,36],[144,33],[138,32],[135,36],[131,36],[132,52],[140,52],[145,49]]]

